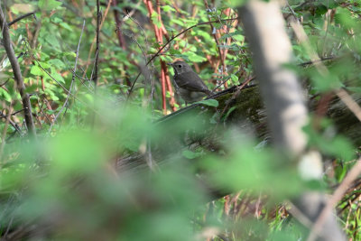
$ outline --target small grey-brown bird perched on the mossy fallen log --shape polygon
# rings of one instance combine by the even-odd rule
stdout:
[[[169,63],[174,70],[174,87],[186,104],[199,101],[202,97],[211,94],[202,79],[190,66],[183,61]]]

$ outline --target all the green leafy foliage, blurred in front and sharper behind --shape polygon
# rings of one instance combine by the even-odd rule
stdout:
[[[355,162],[353,140],[338,134],[329,117],[310,116],[310,125],[304,128],[310,149],[331,160],[332,169],[317,183],[302,181],[294,163],[282,160],[271,147],[258,148],[264,140],[242,130],[225,130],[221,150],[181,147],[174,136],[190,126],[195,130],[190,135],[201,134],[197,130],[204,120],[183,118],[171,126],[153,125],[163,113],[184,105],[178,97],[172,102],[172,89],[165,82],[162,88],[162,61],[192,62],[209,89],[222,90],[253,77],[251,53],[237,23],[235,1],[211,5],[157,1],[152,14],[147,2],[123,1],[108,11],[108,2],[102,2],[97,87],[92,80],[97,1],[5,3],[8,22],[36,11],[36,17],[23,18],[10,30],[31,95],[38,138],[25,135],[21,97],[5,50],[0,49],[0,82],[5,83],[0,88],[2,114],[20,111],[11,123],[4,115],[0,123],[0,233],[72,240],[304,239],[306,230],[291,218],[288,204],[281,203],[304,190],[332,191]],[[310,61],[307,46],[290,29],[292,69],[305,79],[309,97],[318,100],[341,87],[359,95],[360,1],[289,4],[282,8],[286,23],[294,16],[302,19],[311,48],[328,70],[321,74],[317,65],[305,64]],[[146,64],[171,36],[190,27]],[[168,35],[163,32],[159,42],[154,32],[162,28]],[[130,95],[139,72],[142,75]],[[213,99],[199,104],[218,107]],[[218,125],[213,118],[206,121]],[[159,166],[153,156],[151,172],[115,173],[119,158],[135,152],[152,154],[147,153],[148,144],[180,150]],[[233,194],[210,201],[199,177]],[[354,240],[361,238],[359,183],[338,204],[338,216]],[[16,233],[20,227],[23,231]]]

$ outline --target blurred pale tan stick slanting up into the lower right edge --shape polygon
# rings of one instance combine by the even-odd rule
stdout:
[[[356,178],[360,173],[361,173],[361,158],[357,160],[355,166],[348,172],[345,179],[338,186],[338,189],[335,190],[331,199],[329,199],[329,201],[327,202],[325,208],[322,209],[321,213],[319,214],[319,218],[317,219],[315,225],[312,227],[310,231],[310,236],[308,237],[307,241],[316,240],[319,231],[321,230],[326,219],[331,214],[332,209],[335,207],[338,201],[342,199],[342,196],[344,195],[347,188],[351,185],[353,181],[356,180]]]

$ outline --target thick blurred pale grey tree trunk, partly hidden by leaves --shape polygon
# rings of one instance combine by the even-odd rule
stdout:
[[[306,124],[307,109],[295,73],[284,67],[292,61],[292,45],[284,30],[280,8],[275,0],[268,3],[249,1],[240,9],[240,16],[254,53],[255,73],[259,78],[273,144],[287,153],[290,160],[297,157],[302,162],[307,140],[301,128]],[[317,175],[313,178],[322,178],[318,156],[312,155],[312,162],[308,162],[308,169],[304,170],[308,173],[301,173],[301,176],[312,176],[310,172],[316,170]],[[295,204],[314,223],[324,209],[325,196],[319,192],[306,192]],[[320,240],[347,240],[331,215],[318,235]]]

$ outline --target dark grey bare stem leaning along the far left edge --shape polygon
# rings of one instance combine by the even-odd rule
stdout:
[[[1,6],[0,6],[0,25],[2,26],[3,29],[4,48],[14,71],[14,79],[16,81],[17,90],[19,91],[20,96],[22,97],[23,100],[23,109],[24,109],[23,113],[25,117],[25,123],[29,130],[29,133],[32,136],[36,137],[35,125],[33,124],[33,120],[32,120],[32,105],[30,103],[29,95],[25,92],[25,85],[23,84],[22,72],[20,70],[19,62],[16,59],[13,46],[11,44],[9,28],[7,26],[5,20],[5,14],[3,13],[3,9],[1,8]]]

